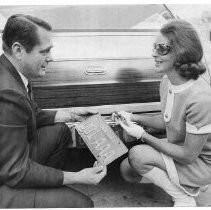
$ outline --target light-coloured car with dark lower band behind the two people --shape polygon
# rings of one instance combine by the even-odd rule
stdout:
[[[53,62],[33,80],[43,109],[94,107],[117,135],[128,141],[110,116],[114,111],[160,112],[152,45],[161,25],[175,15],[163,4],[1,6],[5,21],[14,13],[41,17],[53,26]],[[0,23],[0,26],[3,23]],[[209,74],[206,78],[210,81]],[[84,143],[68,124],[71,147]]]

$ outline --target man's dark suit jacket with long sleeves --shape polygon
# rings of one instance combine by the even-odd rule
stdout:
[[[39,127],[54,123],[55,112],[42,111],[30,100],[22,79],[3,54],[0,57],[0,189],[45,188],[62,185],[60,170],[31,157],[31,142]]]

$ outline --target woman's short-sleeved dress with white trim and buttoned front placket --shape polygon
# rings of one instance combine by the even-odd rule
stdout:
[[[182,164],[162,153],[170,179],[187,194],[197,196],[199,188],[211,183],[211,87],[199,77],[174,86],[167,76],[160,85],[161,112],[167,141],[183,145],[186,133],[207,134],[207,141],[191,164]]]

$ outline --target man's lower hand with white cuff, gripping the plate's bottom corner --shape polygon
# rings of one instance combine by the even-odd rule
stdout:
[[[85,168],[79,172],[64,172],[64,185],[89,184],[97,185],[107,174],[106,166],[98,165]]]

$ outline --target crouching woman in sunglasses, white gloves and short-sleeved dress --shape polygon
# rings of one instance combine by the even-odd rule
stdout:
[[[130,182],[150,180],[172,196],[174,206],[196,206],[194,196],[211,183],[211,88],[201,77],[202,46],[191,24],[174,20],[161,28],[152,56],[155,71],[165,75],[161,114],[113,114],[129,135],[145,142],[130,149],[121,173]],[[167,139],[142,126],[166,130]]]

